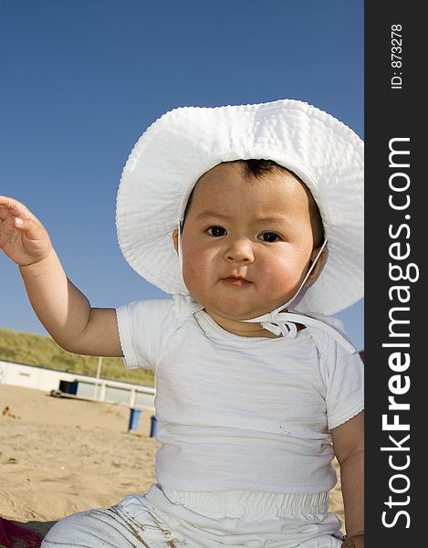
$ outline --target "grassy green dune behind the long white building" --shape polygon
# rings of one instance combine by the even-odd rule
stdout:
[[[69,353],[45,335],[0,328],[0,360],[18,364],[42,365],[68,373],[97,374],[98,358]],[[127,370],[121,358],[103,358],[101,377],[153,386],[154,377],[144,369]]]

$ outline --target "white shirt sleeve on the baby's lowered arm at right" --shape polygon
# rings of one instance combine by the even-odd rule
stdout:
[[[328,427],[339,427],[364,409],[364,364],[358,352],[349,353],[329,340],[326,360]]]

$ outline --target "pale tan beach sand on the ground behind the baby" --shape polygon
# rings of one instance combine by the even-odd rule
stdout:
[[[105,507],[155,481],[153,410],[128,431],[130,409],[0,385],[0,516],[39,532],[58,519]],[[343,522],[340,484],[330,510]]]

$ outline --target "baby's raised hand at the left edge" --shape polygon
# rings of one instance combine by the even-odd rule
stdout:
[[[0,248],[19,266],[47,258],[52,244],[47,230],[25,205],[0,196]]]

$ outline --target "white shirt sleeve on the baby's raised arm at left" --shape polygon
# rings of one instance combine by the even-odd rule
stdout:
[[[116,315],[125,366],[156,371],[163,344],[174,326],[173,300],[130,302],[117,308]]]

